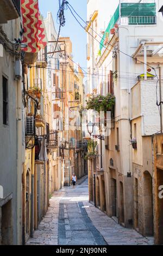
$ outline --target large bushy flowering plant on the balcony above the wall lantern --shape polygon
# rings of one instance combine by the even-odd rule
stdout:
[[[89,100],[86,101],[86,109],[95,109],[98,113],[101,111],[112,111],[115,106],[115,96],[112,94],[92,95]]]

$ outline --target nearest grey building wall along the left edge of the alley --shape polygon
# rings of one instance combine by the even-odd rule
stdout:
[[[1,1],[0,8],[0,244],[21,244],[22,73],[20,45],[20,1]],[[19,132],[20,136],[19,136]],[[19,137],[18,137],[19,136]]]

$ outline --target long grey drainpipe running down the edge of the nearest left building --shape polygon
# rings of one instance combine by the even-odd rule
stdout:
[[[19,60],[17,60],[18,62]],[[22,83],[17,78],[17,245],[22,244]]]

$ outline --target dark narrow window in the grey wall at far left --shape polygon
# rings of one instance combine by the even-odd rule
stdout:
[[[3,124],[8,125],[8,80],[3,76]]]

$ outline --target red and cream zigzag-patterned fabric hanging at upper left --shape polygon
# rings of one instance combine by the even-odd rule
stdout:
[[[22,42],[28,45],[23,51],[39,52],[47,45],[47,38],[38,0],[21,0],[21,11],[24,28]]]

